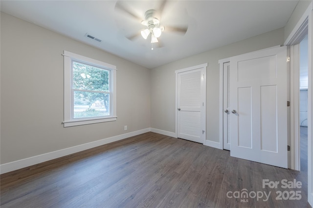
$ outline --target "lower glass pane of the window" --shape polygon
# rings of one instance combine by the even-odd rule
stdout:
[[[110,94],[74,91],[73,118],[110,115]]]

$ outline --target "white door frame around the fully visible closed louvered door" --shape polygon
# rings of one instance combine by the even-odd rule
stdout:
[[[203,64],[199,64],[196,66],[191,66],[191,67],[187,67],[184,69],[179,69],[175,71],[175,76],[176,76],[176,96],[175,96],[175,135],[176,138],[178,138],[178,122],[177,122],[177,113],[178,113],[178,74],[182,73],[182,72],[187,72],[187,71],[191,71],[191,70],[196,70],[196,69],[203,69],[203,77],[201,77],[201,79],[203,80],[203,82],[201,82],[201,84],[203,86],[201,86],[201,89],[203,89],[203,91],[201,91],[201,101],[202,101],[202,106],[203,108],[201,109],[201,129],[204,131],[202,134],[203,137],[203,143],[205,145],[205,141],[206,141],[206,67],[207,67],[208,63],[203,63]]]

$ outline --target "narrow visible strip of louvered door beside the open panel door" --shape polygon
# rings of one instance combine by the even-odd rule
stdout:
[[[230,150],[230,62],[224,63],[224,116],[223,116],[223,148]]]

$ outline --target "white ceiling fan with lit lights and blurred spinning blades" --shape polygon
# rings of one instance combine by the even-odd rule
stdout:
[[[164,7],[166,5],[167,0],[160,1],[161,4],[157,10],[149,9],[144,13],[144,19],[137,16],[134,12],[124,6],[120,1],[117,1],[115,8],[120,11],[126,13],[127,15],[133,17],[135,20],[141,22],[141,24],[145,27],[140,30],[140,33],[135,33],[132,36],[127,37],[130,40],[141,35],[144,39],[151,40],[151,50],[153,50],[153,43],[158,43],[158,46],[161,47],[160,41],[157,38],[160,38],[162,32],[179,32],[181,34],[185,34],[187,32],[188,26],[183,27],[175,27],[175,26],[166,26],[160,24],[160,19],[157,18],[156,14],[159,14],[159,17],[162,16]]]

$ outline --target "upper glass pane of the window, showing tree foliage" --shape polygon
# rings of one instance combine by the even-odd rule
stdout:
[[[109,92],[109,70],[72,61],[73,89]]]

